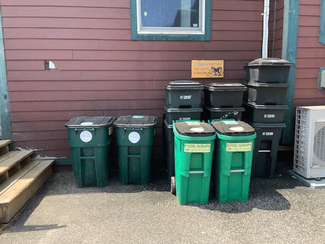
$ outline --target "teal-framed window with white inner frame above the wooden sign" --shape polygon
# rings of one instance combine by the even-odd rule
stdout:
[[[133,40],[209,41],[211,0],[131,0]]]

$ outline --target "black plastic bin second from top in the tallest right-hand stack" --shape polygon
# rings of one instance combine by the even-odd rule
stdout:
[[[244,102],[254,105],[284,105],[289,83],[244,83]]]

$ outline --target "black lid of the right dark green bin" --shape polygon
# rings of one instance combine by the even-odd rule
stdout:
[[[148,115],[126,115],[115,120],[115,127],[152,127],[157,123],[157,117]]]

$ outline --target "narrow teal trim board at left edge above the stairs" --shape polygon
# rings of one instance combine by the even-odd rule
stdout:
[[[1,135],[3,139],[12,139],[4,35],[0,11],[0,137]]]

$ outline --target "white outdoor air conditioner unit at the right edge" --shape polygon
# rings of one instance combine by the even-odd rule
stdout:
[[[294,172],[325,177],[325,106],[297,107]]]

